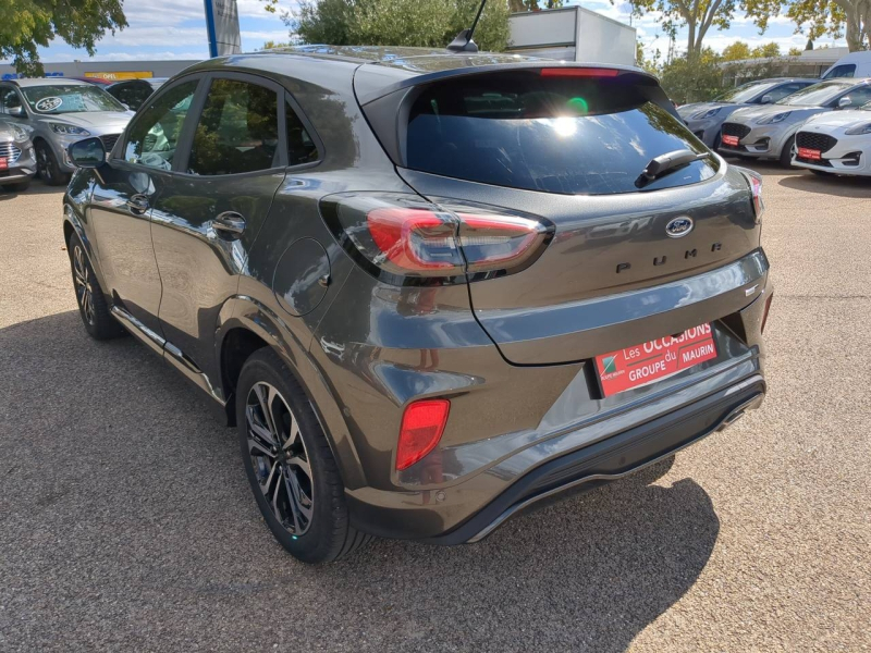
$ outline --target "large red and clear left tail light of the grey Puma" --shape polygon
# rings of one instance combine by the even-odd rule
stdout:
[[[391,283],[452,283],[516,272],[547,247],[542,218],[398,193],[343,193],[321,213],[364,268]]]

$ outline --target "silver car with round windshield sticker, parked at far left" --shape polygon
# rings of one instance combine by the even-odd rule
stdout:
[[[133,112],[93,84],[46,77],[0,82],[0,118],[30,130],[39,175],[60,186],[75,170],[66,147],[98,136],[111,151]]]

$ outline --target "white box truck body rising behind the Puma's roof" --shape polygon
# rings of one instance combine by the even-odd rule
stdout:
[[[507,51],[544,59],[635,65],[635,27],[580,7],[514,13]]]

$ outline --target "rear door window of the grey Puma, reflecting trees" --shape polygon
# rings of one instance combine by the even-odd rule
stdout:
[[[278,95],[236,79],[214,79],[199,116],[188,172],[238,174],[277,168]]]

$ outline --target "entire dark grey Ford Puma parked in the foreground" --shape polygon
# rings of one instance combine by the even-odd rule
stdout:
[[[475,542],[765,393],[760,181],[637,69],[219,58],[70,156],[85,329],[211,398],[303,560]]]

